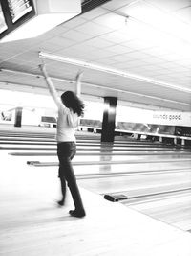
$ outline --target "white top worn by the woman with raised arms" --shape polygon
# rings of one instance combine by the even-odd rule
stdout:
[[[79,118],[73,110],[67,108],[62,103],[58,106],[58,119],[57,119],[57,142],[76,141],[74,133],[75,128],[78,126]]]

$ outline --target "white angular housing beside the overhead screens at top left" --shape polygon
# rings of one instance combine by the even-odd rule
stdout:
[[[81,12],[80,0],[35,0],[36,15],[6,35],[0,42],[41,35]]]

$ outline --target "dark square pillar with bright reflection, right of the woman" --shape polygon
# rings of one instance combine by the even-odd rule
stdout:
[[[104,97],[101,142],[114,142],[117,97]]]

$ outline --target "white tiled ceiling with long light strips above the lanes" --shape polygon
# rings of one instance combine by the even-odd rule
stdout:
[[[74,90],[83,70],[86,99],[191,111],[190,29],[191,0],[112,0],[44,35],[1,43],[0,89],[47,93],[41,52],[82,63],[44,60],[57,90]]]

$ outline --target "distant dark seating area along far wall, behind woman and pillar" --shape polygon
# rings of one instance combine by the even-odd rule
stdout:
[[[42,116],[39,127],[56,128],[56,118]],[[94,133],[100,133],[102,122],[94,119],[80,119],[79,129]],[[117,122],[116,135],[129,135],[140,140],[159,141],[164,144],[190,146],[191,128],[175,127],[153,124]]]

